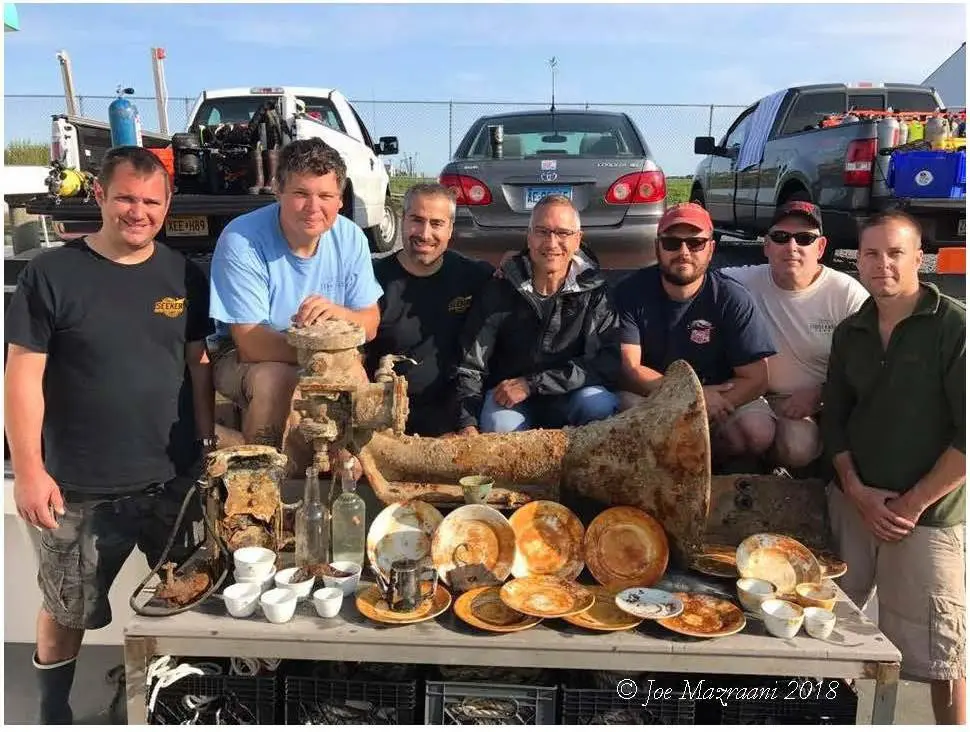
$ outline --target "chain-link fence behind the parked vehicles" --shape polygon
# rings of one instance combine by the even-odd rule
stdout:
[[[77,97],[78,113],[107,121],[111,96]],[[145,130],[159,128],[153,97],[132,97],[138,106]],[[194,97],[170,97],[169,132],[188,126]],[[371,136],[396,136],[400,154],[391,159],[395,170],[414,176],[437,176],[469,127],[479,117],[516,110],[548,108],[547,102],[457,102],[457,101],[378,101],[353,100]],[[46,143],[50,136],[50,117],[63,114],[63,96],[4,96],[5,142],[30,140]],[[697,164],[694,138],[720,137],[744,109],[720,104],[624,104],[565,103],[557,109],[598,109],[625,112],[640,128],[654,158],[667,175],[690,175]]]

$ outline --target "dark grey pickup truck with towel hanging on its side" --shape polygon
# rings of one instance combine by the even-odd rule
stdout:
[[[965,246],[966,199],[903,199],[886,181],[889,155],[880,155],[877,122],[820,128],[830,115],[853,109],[933,112],[943,107],[936,92],[907,84],[791,87],[770,122],[760,162],[738,169],[755,103],[745,109],[720,142],[698,137],[691,200],[710,211],[716,233],[746,239],[764,235],[779,203],[809,200],[822,210],[825,232],[836,249],[855,249],[860,220],[887,208],[902,208],[923,225],[924,245]]]

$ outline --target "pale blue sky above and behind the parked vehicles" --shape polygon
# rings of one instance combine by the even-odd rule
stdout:
[[[63,111],[54,54],[71,56],[80,95],[154,88],[149,48],[167,51],[171,97],[203,88],[336,87],[355,100],[557,101],[746,105],[775,89],[826,81],[920,82],[966,40],[959,5],[205,5],[18,4],[4,37],[4,92],[51,95],[4,105],[4,139],[46,140]],[[109,100],[85,114],[107,118]],[[153,102],[139,104],[154,128]],[[510,107],[509,107],[510,108]],[[457,105],[452,146],[480,114]],[[447,105],[363,104],[377,136],[436,174],[449,154]],[[642,107],[634,117],[660,163],[689,173],[710,111]],[[738,109],[715,110],[715,134]],[[170,121],[185,123],[184,105]]]

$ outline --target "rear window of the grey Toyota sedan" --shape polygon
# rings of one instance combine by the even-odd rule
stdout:
[[[489,117],[483,121],[464,156],[492,155],[488,128],[502,125],[504,158],[643,157],[640,140],[626,117],[616,114],[550,112]]]

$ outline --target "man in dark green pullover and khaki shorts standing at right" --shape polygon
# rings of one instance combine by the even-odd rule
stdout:
[[[836,328],[822,437],[837,474],[829,516],[862,607],[902,675],[930,682],[938,723],[966,720],[966,309],[921,284],[919,223],[873,217],[859,238],[872,297]]]

